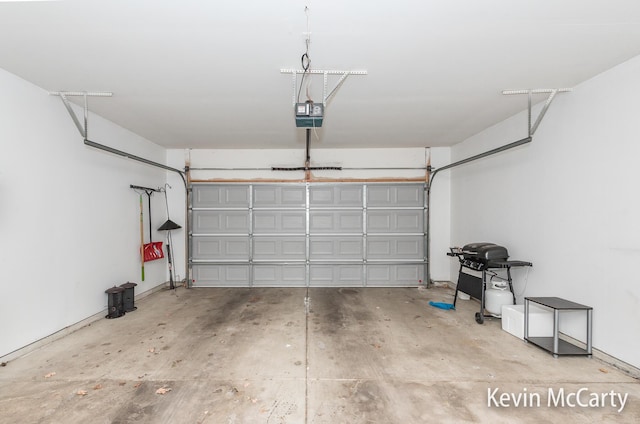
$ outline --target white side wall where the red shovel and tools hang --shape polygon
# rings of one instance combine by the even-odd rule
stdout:
[[[140,281],[129,188],[163,186],[165,172],[85,146],[59,98],[3,70],[0,92],[1,357],[104,311],[109,287],[136,282],[139,294],[164,283],[166,262],[147,263]],[[93,115],[89,138],[165,160],[164,149]],[[164,198],[152,208],[157,228]]]

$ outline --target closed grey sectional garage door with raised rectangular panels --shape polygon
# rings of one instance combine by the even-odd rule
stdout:
[[[416,286],[426,264],[424,188],[193,184],[193,286]]]

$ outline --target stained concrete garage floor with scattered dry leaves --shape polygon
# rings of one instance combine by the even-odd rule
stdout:
[[[308,315],[306,295],[148,296],[1,367],[0,422],[640,422],[638,380],[478,325],[475,301],[429,306],[449,289],[309,289]],[[549,406],[550,389],[592,405]],[[621,412],[612,391],[628,394]]]

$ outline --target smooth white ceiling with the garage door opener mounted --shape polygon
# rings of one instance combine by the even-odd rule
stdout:
[[[301,68],[307,30],[311,69],[367,71],[336,90],[314,148],[447,146],[526,108],[504,89],[573,87],[640,54],[640,2],[0,1],[0,68],[111,91],[90,110],[168,148],[298,148],[280,69]]]

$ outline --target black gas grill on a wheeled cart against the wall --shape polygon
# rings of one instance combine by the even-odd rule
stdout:
[[[516,303],[516,296],[513,292],[513,284],[511,280],[511,267],[515,266],[532,266],[531,262],[510,261],[509,252],[504,246],[494,243],[470,243],[462,248],[451,247],[449,256],[457,256],[460,261],[460,271],[458,273],[458,284],[456,286],[456,295],[453,300],[455,306],[458,300],[458,292],[463,292],[471,297],[480,300],[480,312],[476,313],[476,322],[482,324],[487,316],[484,312],[485,306],[485,289],[488,270],[503,269],[507,272],[507,281],[509,282],[509,290],[513,296],[513,304]],[[472,271],[482,272],[482,277],[471,275],[465,272],[465,268]]]

